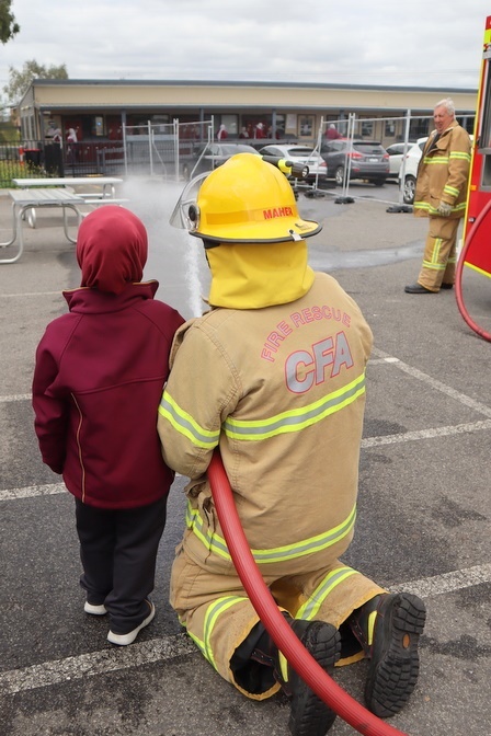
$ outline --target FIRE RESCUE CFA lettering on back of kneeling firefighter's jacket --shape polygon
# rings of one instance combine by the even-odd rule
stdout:
[[[270,332],[261,350],[261,358],[274,363],[275,354],[287,341],[288,335],[316,320],[334,320],[346,327],[351,324],[350,314],[328,304],[316,304],[298,312],[292,312],[288,320],[283,320]],[[313,345],[288,355],[285,363],[287,387],[295,393],[304,393],[313,384],[326,380],[327,368],[330,368],[329,372],[332,377],[338,376],[342,366],[351,368],[353,358],[346,334],[340,330],[334,336],[317,341]]]

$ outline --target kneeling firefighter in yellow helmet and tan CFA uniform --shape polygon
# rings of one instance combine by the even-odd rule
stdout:
[[[328,672],[369,658],[366,705],[390,716],[416,682],[424,605],[340,561],[356,516],[370,329],[338,281],[308,266],[305,239],[321,228],[260,157],[212,172],[181,217],[204,242],[212,283],[209,311],[176,333],[159,406],[165,462],[191,479],[171,603],[243,694],[285,690],[294,736],[329,731],[335,713],[281,655],[233,567],[206,478],[219,447],[284,617]]]

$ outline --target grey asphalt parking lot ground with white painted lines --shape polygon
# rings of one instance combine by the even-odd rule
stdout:
[[[168,226],[178,192],[161,182],[123,186],[150,235],[145,276],[159,279],[159,298],[192,317],[207,269],[198,242]],[[491,345],[464,322],[454,291],[403,292],[418,276],[426,222],[387,212],[395,187],[354,185],[351,194],[352,204],[335,204],[332,192],[298,202],[304,217],[324,226],[309,241],[311,264],[338,278],[375,337],[358,519],[345,561],[426,602],[419,683],[391,725],[411,736],[490,736]],[[0,196],[1,241],[10,217]],[[72,499],[39,460],[30,402],[37,342],[65,311],[61,289],[79,283],[60,221],[56,210],[39,212],[36,229],[25,226],[22,258],[0,265],[0,734],[287,736],[287,701],[256,703],[236,692],[168,603],[185,479],[171,491],[155,621],[135,644],[116,648],[105,621],[83,612]],[[489,279],[465,274],[463,286],[471,313],[491,331]],[[361,700],[365,672],[359,663],[335,679]],[[330,731],[354,733],[340,718]]]

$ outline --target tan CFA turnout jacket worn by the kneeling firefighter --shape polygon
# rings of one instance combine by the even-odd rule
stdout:
[[[217,308],[178,331],[158,430],[168,464],[191,479],[194,559],[230,561],[205,475],[216,447],[260,565],[318,570],[347,548],[372,340],[320,273],[289,303]]]

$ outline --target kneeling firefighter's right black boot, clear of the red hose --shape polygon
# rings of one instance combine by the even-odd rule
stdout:
[[[380,718],[399,713],[414,690],[420,669],[418,642],[425,619],[426,609],[418,596],[386,593],[347,620],[370,659],[365,702]]]

